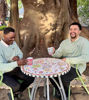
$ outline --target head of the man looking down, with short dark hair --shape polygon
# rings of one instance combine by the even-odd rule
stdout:
[[[4,42],[8,45],[12,44],[15,40],[15,30],[11,27],[7,27],[4,30]]]

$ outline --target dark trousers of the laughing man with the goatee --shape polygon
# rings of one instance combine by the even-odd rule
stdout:
[[[70,85],[70,82],[74,79],[78,77],[77,73],[76,73],[76,69],[71,67],[70,71],[67,72],[66,74],[64,75],[61,75],[61,80],[62,80],[62,83],[63,83],[63,86],[64,86],[64,90],[65,90],[65,93],[66,93],[66,96],[68,97],[68,89],[69,89],[69,85]],[[58,80],[58,77],[55,77],[54,78],[58,84],[59,84],[59,80]],[[50,82],[53,84],[53,86],[56,88],[56,90],[59,92],[59,89],[57,87],[57,85],[55,84],[55,82],[50,78]]]

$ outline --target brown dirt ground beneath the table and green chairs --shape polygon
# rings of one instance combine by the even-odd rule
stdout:
[[[0,100],[9,100],[8,92],[8,90],[0,89]],[[22,97],[18,100],[30,100],[28,96],[28,91],[25,90]],[[35,100],[46,100],[46,98],[43,97],[43,87],[40,87],[38,89]],[[52,87],[50,87],[50,100],[60,100],[53,96]],[[72,88],[71,100],[89,100],[89,95],[84,91],[83,88]]]

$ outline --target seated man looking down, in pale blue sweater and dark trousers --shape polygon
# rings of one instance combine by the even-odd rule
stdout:
[[[15,30],[7,27],[0,41],[0,71],[3,73],[3,83],[10,86],[14,93],[23,92],[34,78],[21,72],[20,67],[27,63],[23,53],[17,46]],[[18,80],[22,80],[19,82]]]

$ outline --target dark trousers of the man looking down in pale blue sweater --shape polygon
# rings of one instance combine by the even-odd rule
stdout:
[[[19,67],[3,74],[3,83],[10,86],[14,93],[23,92],[33,81],[34,78],[22,73]]]

